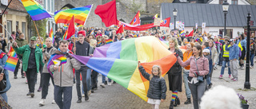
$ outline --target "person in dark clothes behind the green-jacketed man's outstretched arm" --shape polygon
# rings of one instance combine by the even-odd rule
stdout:
[[[23,33],[19,33],[19,35],[18,35],[18,37],[16,37],[16,40],[15,40],[15,41],[16,41],[18,47],[22,47],[22,46],[28,44],[27,41],[25,40],[25,36],[24,36]],[[16,68],[15,68],[15,70],[14,70],[14,79],[17,79],[17,78],[18,78],[18,77],[17,77],[17,75],[18,75],[18,68],[19,68],[19,64],[22,63],[22,56],[23,56],[23,54],[17,54],[17,56],[18,56],[19,60],[18,60],[18,63],[17,63],[17,65],[16,65]],[[23,68],[22,68],[22,70],[21,70],[21,74],[22,74],[22,78],[25,78],[25,76],[24,76],[24,74],[23,74]]]

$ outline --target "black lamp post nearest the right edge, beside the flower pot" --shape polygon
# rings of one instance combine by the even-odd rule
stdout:
[[[246,43],[246,81],[244,88],[250,89],[250,12],[247,16],[247,43]]]

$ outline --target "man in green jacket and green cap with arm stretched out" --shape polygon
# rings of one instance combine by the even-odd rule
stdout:
[[[29,86],[29,92],[26,95],[34,97],[34,86],[35,79],[37,77],[37,72],[39,70],[40,64],[42,63],[42,49],[36,46],[36,37],[30,38],[30,44],[24,45],[22,47],[17,46],[17,42],[14,42],[14,50],[18,54],[23,54],[22,56],[22,68],[26,72],[26,79]]]

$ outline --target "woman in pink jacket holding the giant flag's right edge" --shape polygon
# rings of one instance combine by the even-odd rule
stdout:
[[[182,58],[179,57],[177,53],[175,56],[177,56],[178,63],[182,67],[190,65],[188,82],[193,96],[194,109],[198,109],[202,95],[206,90],[206,80],[203,76],[206,76],[209,73],[209,61],[206,57],[202,56],[201,45],[194,45],[193,53],[194,56],[190,56],[190,59],[185,62],[182,61]]]

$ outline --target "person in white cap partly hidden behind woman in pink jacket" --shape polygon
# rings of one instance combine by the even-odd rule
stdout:
[[[210,50],[209,49],[203,49],[202,54],[203,54],[203,56],[205,56],[208,59],[209,69],[210,69],[211,68],[211,66],[210,66],[210,64],[211,64]],[[207,84],[208,84],[208,86],[206,85],[206,89],[210,89],[211,86],[212,86],[212,83],[210,81],[210,72],[208,73],[208,75],[206,75],[206,81],[207,81]]]

